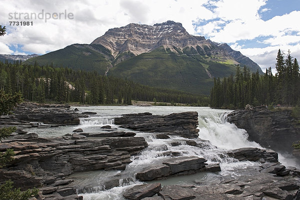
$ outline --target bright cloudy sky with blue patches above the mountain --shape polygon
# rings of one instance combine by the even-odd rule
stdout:
[[[42,55],[90,44],[129,23],[172,20],[191,35],[227,43],[263,71],[274,72],[278,49],[300,59],[300,0],[0,0],[0,5],[7,33],[0,37],[0,54]]]

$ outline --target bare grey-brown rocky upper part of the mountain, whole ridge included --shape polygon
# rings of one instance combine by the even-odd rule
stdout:
[[[109,29],[91,45],[104,46],[115,58],[124,52],[130,52],[134,56],[151,52],[159,47],[180,54],[186,53],[187,48],[193,55],[213,56],[212,60],[219,62],[230,60],[232,64],[247,65],[251,70],[253,68],[253,71],[258,69],[261,72],[256,63],[240,52],[232,50],[227,44],[214,43],[201,36],[189,35],[180,23],[173,21],[153,26],[131,23],[124,27]]]

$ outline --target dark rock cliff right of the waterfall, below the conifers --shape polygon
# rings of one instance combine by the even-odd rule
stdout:
[[[258,142],[263,147],[291,152],[292,143],[300,140],[300,129],[293,123],[289,110],[238,110],[227,117],[230,123],[247,131],[249,140]]]

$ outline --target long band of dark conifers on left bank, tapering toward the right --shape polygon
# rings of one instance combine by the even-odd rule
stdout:
[[[131,100],[208,106],[204,95],[153,88],[96,72],[0,62],[0,89],[35,102],[131,105]]]

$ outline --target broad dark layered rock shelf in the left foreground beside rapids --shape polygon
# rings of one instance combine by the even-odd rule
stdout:
[[[14,150],[15,156],[6,168],[0,169],[0,180],[11,179],[15,187],[22,189],[35,186],[46,187],[48,190],[50,186],[53,191],[48,193],[53,195],[53,192],[59,193],[60,189],[65,189],[57,187],[62,184],[57,181],[62,181],[67,175],[96,169],[125,169],[126,164],[131,162],[130,156],[146,146],[143,137],[99,140],[33,138],[6,141],[0,143],[0,152],[10,148]],[[63,182],[62,185],[68,183]],[[47,193],[43,191],[43,194],[47,197]]]

